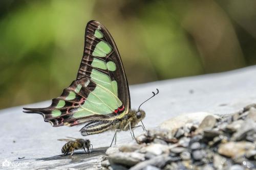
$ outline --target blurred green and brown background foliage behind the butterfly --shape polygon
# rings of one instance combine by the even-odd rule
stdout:
[[[256,1],[0,1],[0,108],[56,98],[98,20],[130,84],[256,64]]]

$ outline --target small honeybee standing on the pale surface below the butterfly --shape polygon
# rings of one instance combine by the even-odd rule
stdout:
[[[71,153],[71,156],[72,156],[75,150],[82,149],[82,148],[84,152],[86,152],[86,148],[88,153],[90,153],[90,149],[91,149],[91,153],[93,152],[93,145],[91,144],[89,139],[81,139],[81,138],[73,138],[73,137],[67,137],[67,138],[70,138],[70,139],[58,139],[59,141],[67,141],[67,143],[64,144],[61,149],[61,153],[63,153],[65,156],[68,155],[69,153]]]

